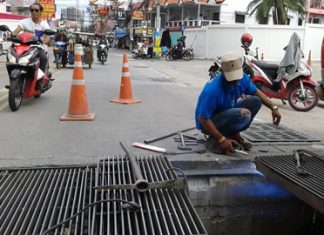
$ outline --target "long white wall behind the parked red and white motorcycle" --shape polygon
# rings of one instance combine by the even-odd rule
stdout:
[[[324,26],[306,25],[300,27],[269,25],[213,25],[201,29],[186,29],[186,45],[192,47],[196,57],[216,58],[229,51],[243,54],[241,36],[244,32],[253,36],[252,50],[259,47],[259,56],[265,60],[280,61],[283,48],[296,32],[301,38],[301,49],[306,59],[311,50],[312,60],[320,60],[320,50],[324,36]]]

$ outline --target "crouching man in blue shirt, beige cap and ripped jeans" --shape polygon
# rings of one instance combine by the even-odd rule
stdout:
[[[279,125],[278,106],[274,106],[243,73],[239,55],[229,53],[222,56],[221,68],[222,73],[207,82],[199,96],[196,127],[209,135],[206,147],[212,152],[233,152],[235,141],[249,150],[252,145],[243,140],[240,132],[249,128],[261,103],[271,109],[273,123]],[[239,99],[243,94],[250,96]]]

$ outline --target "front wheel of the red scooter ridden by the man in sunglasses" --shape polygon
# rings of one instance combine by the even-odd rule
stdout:
[[[23,99],[23,80],[20,78],[10,80],[10,87],[9,87],[9,107],[11,111],[17,111],[21,105],[21,101]]]

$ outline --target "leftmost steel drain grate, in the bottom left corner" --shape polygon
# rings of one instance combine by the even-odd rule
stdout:
[[[94,168],[1,172],[0,234],[42,234],[93,199]],[[89,234],[88,210],[50,234]]]

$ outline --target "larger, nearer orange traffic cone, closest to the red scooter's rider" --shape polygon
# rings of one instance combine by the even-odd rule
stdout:
[[[95,114],[88,111],[87,91],[81,61],[82,54],[82,45],[76,44],[69,110],[60,118],[60,121],[93,121],[95,119]]]

